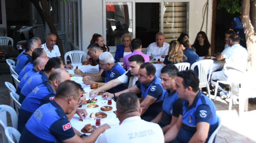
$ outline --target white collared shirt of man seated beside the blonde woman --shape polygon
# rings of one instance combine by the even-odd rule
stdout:
[[[153,56],[154,58],[161,58],[161,55],[168,55],[170,44],[163,42],[163,46],[159,48],[156,44],[156,42],[151,43],[149,47],[147,48],[147,54],[148,56]]]

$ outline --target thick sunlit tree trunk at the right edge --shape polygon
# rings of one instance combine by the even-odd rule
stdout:
[[[255,10],[256,6],[251,6],[251,10]],[[249,61],[247,64],[247,70],[256,70],[256,35],[254,34],[254,27],[250,20],[250,0],[242,0],[241,19],[246,36],[246,45],[249,55]],[[255,18],[254,13],[252,18]]]

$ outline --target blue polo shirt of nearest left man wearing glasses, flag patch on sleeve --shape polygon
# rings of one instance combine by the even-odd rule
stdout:
[[[61,106],[51,100],[39,107],[22,131],[20,143],[56,143],[76,134]]]

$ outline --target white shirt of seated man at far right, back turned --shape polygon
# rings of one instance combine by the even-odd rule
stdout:
[[[232,66],[240,69],[241,71],[244,71],[243,69],[246,69],[247,65],[243,63],[244,61],[242,61],[241,58],[248,57],[248,51],[240,44],[235,44],[231,47],[224,49],[221,54],[226,61],[223,68],[226,75],[229,74],[226,66]]]

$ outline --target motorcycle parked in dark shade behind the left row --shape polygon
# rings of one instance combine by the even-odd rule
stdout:
[[[36,20],[32,20],[31,25],[33,23],[36,23]],[[29,32],[29,31],[32,31],[34,28],[37,28],[37,27],[32,27],[31,25],[30,25],[30,27],[28,27],[28,26],[21,27],[20,30],[17,30],[17,32],[13,34],[13,35],[15,35],[15,34],[20,34],[21,35],[21,40],[22,41],[19,41],[17,43],[17,49],[18,50],[24,50],[26,41],[31,39],[32,37],[34,37],[34,34],[32,32]],[[16,29],[16,26],[11,26],[11,29]]]

